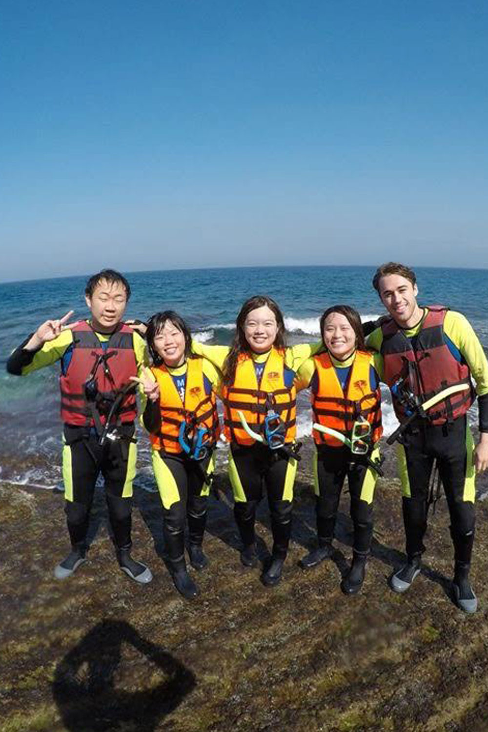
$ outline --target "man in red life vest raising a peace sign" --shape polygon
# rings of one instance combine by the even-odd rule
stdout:
[[[130,556],[137,417],[131,377],[146,362],[146,343],[121,320],[129,296],[125,277],[102,270],[86,283],[89,320],[67,324],[71,310],[59,320],[45,321],[7,362],[7,371],[17,376],[61,362],[63,479],[72,550],[54,570],[59,580],[86,561],[89,513],[100,472],[119,565],[138,583],[152,579],[151,570]]]

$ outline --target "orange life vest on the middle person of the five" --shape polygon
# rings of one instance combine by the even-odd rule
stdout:
[[[224,434],[228,441],[247,446],[255,444],[242,427],[237,412],[244,414],[252,430],[261,433],[266,413],[271,408],[285,425],[285,443],[293,442],[296,434],[296,389],[295,386],[285,386],[284,372],[283,352],[271,348],[258,384],[252,357],[249,354],[239,356],[233,384],[222,387]]]

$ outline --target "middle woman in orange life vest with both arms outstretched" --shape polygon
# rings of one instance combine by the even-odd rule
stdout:
[[[200,343],[193,347],[223,372],[224,433],[230,442],[229,477],[243,544],[241,562],[246,567],[258,564],[255,513],[264,484],[274,543],[261,579],[266,586],[276,585],[290,541],[297,465],[293,382],[299,365],[312,353],[312,346],[286,348],[285,324],[278,305],[269,297],[255,296],[241,307],[230,349]]]

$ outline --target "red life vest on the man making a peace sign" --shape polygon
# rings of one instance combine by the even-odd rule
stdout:
[[[120,389],[130,384],[129,377],[137,376],[133,331],[129,326],[119,324],[105,342],[105,348],[91,326],[83,321],[72,328],[72,356],[67,373],[59,377],[61,389],[61,419],[68,425],[94,427],[93,410],[96,409],[100,422],[105,425],[108,412]],[[111,354],[111,355],[110,355]],[[99,356],[104,356],[94,373]],[[97,397],[86,399],[85,384],[89,377],[97,381]],[[134,391],[124,395],[116,411],[117,422],[133,422],[137,417]]]

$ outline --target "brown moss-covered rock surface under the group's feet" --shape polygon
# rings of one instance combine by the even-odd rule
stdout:
[[[239,562],[224,472],[211,500],[206,553],[185,602],[164,562],[156,493],[136,490],[133,555],[154,573],[138,586],[118,568],[97,493],[89,561],[53,579],[67,553],[61,493],[1,484],[1,732],[486,732],[488,506],[478,503],[473,586],[480,608],[451,600],[446,501],[429,518],[424,569],[402,596],[387,579],[404,559],[399,485],[375,497],[364,588],[339,589],[351,556],[344,491],[333,560],[302,572],[314,545],[310,445],[296,482],[293,542],[282,583]],[[391,463],[391,460],[390,460]],[[392,475],[391,464],[387,475]],[[271,547],[260,508],[260,558]],[[268,549],[267,549],[268,548]]]

